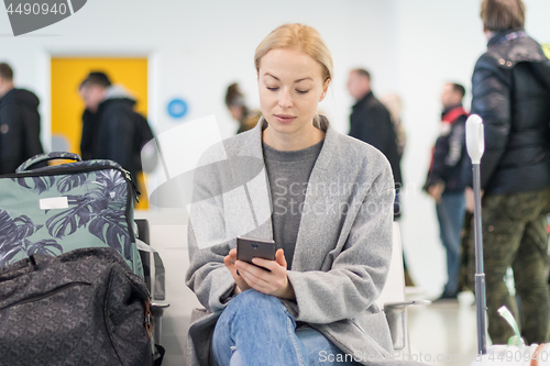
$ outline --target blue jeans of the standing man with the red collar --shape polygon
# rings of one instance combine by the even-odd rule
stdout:
[[[443,296],[455,296],[459,291],[460,232],[464,222],[466,203],[464,192],[441,195],[437,204],[441,243],[447,249],[447,275],[449,279]]]

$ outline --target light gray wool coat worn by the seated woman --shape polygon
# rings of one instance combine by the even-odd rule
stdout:
[[[210,148],[195,176],[186,282],[205,309],[191,315],[188,365],[215,364],[209,361],[213,328],[235,286],[223,257],[235,247],[235,237],[273,239],[262,154],[265,127],[262,119],[253,130]],[[296,301],[282,301],[297,321],[371,364],[367,357],[391,358],[393,352],[385,314],[374,301],[392,256],[394,179],[377,149],[339,134],[323,117],[317,127],[326,138],[287,271]]]

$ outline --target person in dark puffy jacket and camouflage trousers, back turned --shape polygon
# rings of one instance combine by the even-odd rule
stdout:
[[[526,342],[543,343],[550,321],[550,64],[524,31],[520,0],[484,0],[481,18],[488,44],[472,77],[472,113],[485,129],[481,188],[488,333],[494,344],[514,335],[497,314],[506,306]],[[466,201],[472,210],[471,190]],[[521,317],[503,279],[510,266]]]

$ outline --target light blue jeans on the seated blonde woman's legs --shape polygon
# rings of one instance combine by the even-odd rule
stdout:
[[[337,362],[342,352],[310,326],[296,321],[277,298],[248,290],[223,310],[212,337],[219,366],[241,365],[359,365]],[[340,356],[345,359],[344,355]],[[348,357],[350,359],[350,356]]]

